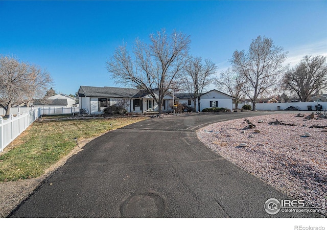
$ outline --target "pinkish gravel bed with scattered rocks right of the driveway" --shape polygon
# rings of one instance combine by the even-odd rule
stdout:
[[[197,135],[208,148],[277,190],[320,206],[327,199],[327,129],[309,127],[325,126],[327,119],[308,120],[296,114],[247,118],[260,133],[244,129],[244,119],[237,119],[206,126]],[[295,126],[268,124],[276,119]],[[305,132],[312,136],[303,136]],[[247,147],[239,147],[241,143]]]

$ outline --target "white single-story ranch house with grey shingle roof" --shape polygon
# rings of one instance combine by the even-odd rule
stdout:
[[[80,86],[78,96],[80,109],[88,114],[102,113],[105,107],[114,105],[122,99],[129,102],[126,107],[127,112],[158,111],[158,105],[151,95],[144,90],[135,88]],[[194,106],[190,94],[176,94],[174,97],[181,104],[187,103]],[[200,111],[209,107],[223,107],[232,110],[232,99],[233,97],[213,89],[201,95]],[[167,94],[164,97],[162,111],[171,111],[172,104],[173,95]]]

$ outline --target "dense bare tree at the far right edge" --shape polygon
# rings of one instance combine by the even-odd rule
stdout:
[[[312,94],[327,89],[327,63],[325,56],[305,56],[283,78],[285,89],[295,92],[301,102],[310,100]]]

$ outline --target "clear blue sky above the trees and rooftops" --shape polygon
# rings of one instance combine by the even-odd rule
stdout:
[[[287,63],[327,55],[327,1],[0,1],[0,54],[45,67],[56,91],[116,86],[105,62],[124,42],[166,28],[190,35],[190,53],[220,71],[262,35]]]

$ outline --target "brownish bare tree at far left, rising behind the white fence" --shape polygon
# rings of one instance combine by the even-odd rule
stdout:
[[[49,73],[15,57],[0,55],[0,106],[10,114],[10,107],[44,93],[52,84]]]

